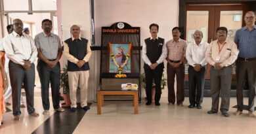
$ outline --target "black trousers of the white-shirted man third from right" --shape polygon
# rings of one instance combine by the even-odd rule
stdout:
[[[188,67],[189,102],[190,105],[201,105],[203,102],[203,89],[205,83],[205,67],[195,71],[191,65]]]

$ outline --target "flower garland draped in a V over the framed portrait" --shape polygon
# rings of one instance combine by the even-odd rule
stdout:
[[[121,72],[123,71],[123,67],[125,67],[125,65],[127,64],[128,59],[129,59],[129,57],[130,57],[130,54],[131,54],[131,44],[130,44],[130,46],[129,46],[128,53],[126,54],[125,62],[122,63],[121,65],[118,65],[117,62],[116,62],[115,55],[114,55],[113,52],[112,52],[112,46],[111,46],[111,44],[109,43],[108,45],[109,45],[109,47],[110,47],[110,56],[111,56],[112,60],[114,61],[114,64],[115,64],[116,67],[118,68],[118,69],[117,69],[118,74],[115,75],[115,78],[125,78],[125,77],[127,77],[127,75],[121,74]]]

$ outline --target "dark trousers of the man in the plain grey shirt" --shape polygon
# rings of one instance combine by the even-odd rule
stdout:
[[[60,63],[58,62],[54,67],[47,67],[47,63],[38,59],[37,71],[41,82],[41,97],[43,109],[50,109],[49,102],[49,84],[51,83],[51,93],[53,99],[53,109],[60,107],[60,99],[58,97],[60,92]]]

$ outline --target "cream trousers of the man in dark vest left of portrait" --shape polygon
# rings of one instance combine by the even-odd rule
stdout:
[[[87,88],[89,71],[68,71],[68,84],[70,86],[71,107],[77,107],[77,90],[80,92],[81,107],[87,106]]]

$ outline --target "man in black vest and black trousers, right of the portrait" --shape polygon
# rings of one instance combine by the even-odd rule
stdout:
[[[155,105],[160,106],[161,76],[163,75],[163,61],[167,50],[164,39],[158,37],[158,24],[150,25],[151,37],[144,40],[142,46],[142,59],[144,60],[144,72],[146,77],[146,105],[152,103],[152,82],[156,84]]]

